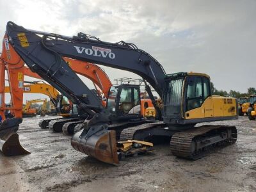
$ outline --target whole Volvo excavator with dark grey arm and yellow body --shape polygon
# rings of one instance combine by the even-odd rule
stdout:
[[[81,124],[83,129],[71,140],[72,147],[84,154],[117,164],[116,138],[149,140],[154,136],[168,136],[172,137],[170,146],[175,156],[198,159],[214,147],[236,142],[234,126],[195,127],[200,122],[237,118],[237,100],[212,95],[209,76],[205,74],[180,72],[167,75],[156,59],[136,45],[123,41],[116,44],[102,42],[84,33],[62,36],[25,29],[8,22],[6,34],[28,67],[87,115]],[[129,121],[117,118],[113,111],[102,106],[61,56],[138,74],[161,95],[163,113],[147,89],[157,114],[163,116],[163,122],[131,126],[127,122],[132,118]],[[119,103],[116,106],[122,108]],[[116,130],[120,136],[116,136]]]

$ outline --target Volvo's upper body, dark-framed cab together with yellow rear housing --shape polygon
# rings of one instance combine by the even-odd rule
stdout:
[[[237,100],[212,95],[210,78],[206,74],[181,72],[168,75],[163,104],[164,122],[172,125],[237,118]]]

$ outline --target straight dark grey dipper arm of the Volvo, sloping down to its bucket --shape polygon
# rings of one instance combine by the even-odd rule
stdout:
[[[7,29],[7,33],[9,33],[8,31],[9,30]],[[10,33],[14,32],[11,31]],[[19,33],[19,35],[20,34],[22,35],[24,33]],[[93,95],[90,89],[83,83],[83,81],[81,81],[81,79],[79,79],[67,62],[61,58],[60,54],[49,51],[49,49],[36,49],[39,48],[36,44],[38,44],[38,41],[40,42],[40,36],[29,35],[30,38],[35,37],[36,39],[32,40],[28,38],[28,44],[22,40],[22,38],[26,38],[25,34],[24,36],[19,36],[20,40],[22,40],[22,46],[17,45],[17,47],[15,44],[20,42],[19,38],[17,38],[17,34],[15,37],[12,37],[11,34],[8,36],[12,38],[15,51],[26,62],[28,67],[61,93],[66,95],[74,104],[85,104],[86,106],[81,108],[90,115],[94,115],[95,111],[99,112],[102,111],[102,109],[104,110],[99,100],[95,98],[95,95]],[[37,42],[35,42],[35,40]],[[29,48],[29,50],[27,48]],[[38,55],[39,53],[40,56]]]

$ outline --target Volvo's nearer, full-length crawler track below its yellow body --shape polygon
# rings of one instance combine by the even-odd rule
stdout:
[[[236,143],[236,140],[234,126],[203,125],[173,134],[170,148],[174,156],[196,160],[214,148],[225,147]]]

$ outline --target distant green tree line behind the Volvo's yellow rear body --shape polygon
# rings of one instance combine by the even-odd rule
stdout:
[[[230,90],[230,92],[226,92],[225,90],[218,90],[214,87],[214,84],[211,82],[211,90],[213,95],[221,95],[224,97],[249,97],[250,95],[256,95],[256,89],[254,87],[247,88],[247,93],[236,92],[235,90]]]

